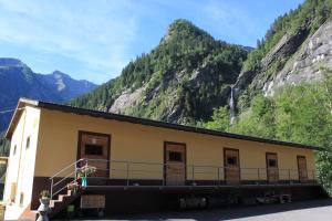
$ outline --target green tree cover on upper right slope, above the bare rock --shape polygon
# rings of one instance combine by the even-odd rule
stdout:
[[[248,59],[243,62],[243,72],[256,73],[256,77],[258,77],[250,85],[249,95],[251,97],[261,90],[261,83],[277,74],[294,53],[294,51],[289,49],[288,52],[273,53],[273,56],[271,56],[269,53],[271,53],[278,42],[286,35],[287,39],[294,36],[293,50],[300,46],[308,34],[313,34],[331,17],[331,0],[307,0],[298,9],[278,17],[264,38],[257,41],[257,49],[251,51],[248,54]],[[299,35],[302,35],[301,39],[299,39]],[[268,54],[269,56],[267,56]],[[263,57],[269,59],[262,62]],[[262,66],[262,64],[264,65]]]

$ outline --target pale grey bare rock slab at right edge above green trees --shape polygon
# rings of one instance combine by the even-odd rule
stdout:
[[[332,69],[332,21],[326,21],[310,36],[277,76],[264,83],[266,95],[287,84],[315,82],[322,77],[322,69]]]

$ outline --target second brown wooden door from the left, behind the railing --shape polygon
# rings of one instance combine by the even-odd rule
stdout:
[[[165,143],[165,180],[167,186],[186,183],[186,145]]]

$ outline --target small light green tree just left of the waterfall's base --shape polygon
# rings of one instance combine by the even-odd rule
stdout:
[[[226,131],[230,128],[230,113],[227,106],[215,108],[211,120],[201,125],[208,129]]]

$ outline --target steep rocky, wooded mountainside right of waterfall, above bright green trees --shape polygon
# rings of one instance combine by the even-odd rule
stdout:
[[[240,109],[261,92],[273,95],[284,85],[313,83],[323,76],[320,69],[332,69],[331,8],[331,0],[307,0],[276,19],[234,87]]]

